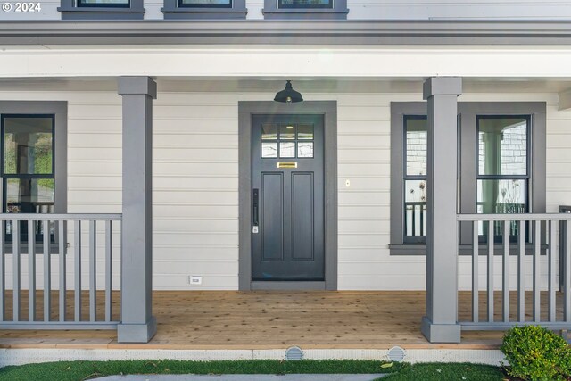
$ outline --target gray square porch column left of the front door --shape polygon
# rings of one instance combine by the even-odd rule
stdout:
[[[148,77],[120,77],[123,96],[123,220],[121,323],[117,341],[147,343],[157,330],[153,317],[153,99]]]

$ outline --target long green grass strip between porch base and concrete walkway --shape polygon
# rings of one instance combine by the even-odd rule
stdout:
[[[392,373],[406,366],[382,368],[376,360],[236,360],[236,361],[62,361],[0,369],[0,380],[79,381],[128,374],[291,374],[291,373]]]

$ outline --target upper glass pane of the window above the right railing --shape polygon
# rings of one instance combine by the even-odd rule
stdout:
[[[527,174],[527,118],[478,117],[480,175]]]

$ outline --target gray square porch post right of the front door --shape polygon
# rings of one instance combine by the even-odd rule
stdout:
[[[462,79],[426,79],[428,101],[426,316],[422,334],[431,343],[459,343],[457,128]]]

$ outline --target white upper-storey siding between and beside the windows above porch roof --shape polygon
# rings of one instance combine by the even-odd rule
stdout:
[[[11,2],[12,4],[15,2]],[[0,20],[60,20],[58,0],[38,0],[40,12],[0,12]],[[145,1],[145,19],[161,20],[161,0]],[[350,20],[569,20],[571,4],[567,1],[537,0],[348,0]],[[248,19],[263,19],[263,0],[246,1]],[[189,21],[192,22],[192,21]]]

